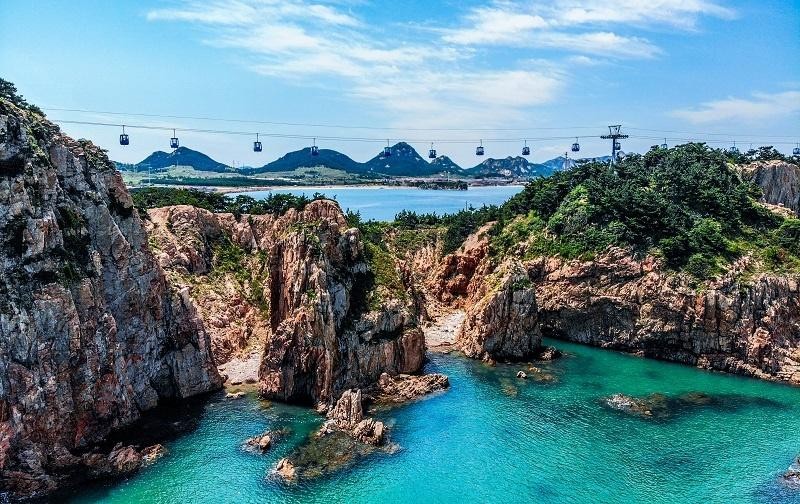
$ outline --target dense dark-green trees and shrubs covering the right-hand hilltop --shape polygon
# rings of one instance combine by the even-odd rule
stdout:
[[[747,155],[775,157],[773,151]],[[698,279],[719,274],[746,253],[771,270],[800,271],[800,221],[759,205],[760,190],[744,182],[729,161],[728,152],[705,144],[654,148],[615,166],[587,162],[536,179],[499,207],[445,216],[401,212],[392,226],[444,227],[445,252],[494,221],[497,256],[523,243],[528,257],[583,259],[621,246],[659,255],[668,267]]]

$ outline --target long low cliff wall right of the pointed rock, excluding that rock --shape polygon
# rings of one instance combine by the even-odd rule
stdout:
[[[800,384],[800,279],[726,276],[698,292],[652,257],[527,264],[546,336]]]

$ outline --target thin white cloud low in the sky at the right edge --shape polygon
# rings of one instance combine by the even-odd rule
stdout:
[[[726,98],[700,106],[675,110],[670,115],[694,124],[723,121],[752,122],[777,120],[800,113],[800,91],[767,94],[755,93],[752,98]]]

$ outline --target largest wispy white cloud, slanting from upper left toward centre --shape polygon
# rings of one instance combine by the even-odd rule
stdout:
[[[324,77],[339,78],[336,83],[345,93],[391,111],[391,124],[485,123],[488,107],[498,124],[522,120],[526,109],[552,102],[565,85],[553,64],[465,70],[462,63],[474,53],[470,47],[373,34],[367,24],[327,5],[314,10],[327,23],[320,27],[304,5],[300,0],[216,0],[210,5],[187,0],[179,8],[151,11],[148,19],[197,24],[207,30],[208,44],[243,51],[250,68],[262,75],[316,85],[326,82]],[[490,20],[497,33],[505,21]],[[520,20],[516,26],[539,22]]]

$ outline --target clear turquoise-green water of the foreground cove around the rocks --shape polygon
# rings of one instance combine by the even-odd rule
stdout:
[[[431,356],[427,371],[448,374],[451,389],[383,413],[400,450],[332,476],[296,485],[268,476],[316,415],[218,395],[169,456],[74,502],[800,502],[777,482],[800,452],[800,389],[550,343],[569,354],[540,366],[554,383],[516,379],[521,366]],[[719,401],[641,419],[601,404],[617,392]],[[266,455],[240,449],[287,426],[292,436]]]

